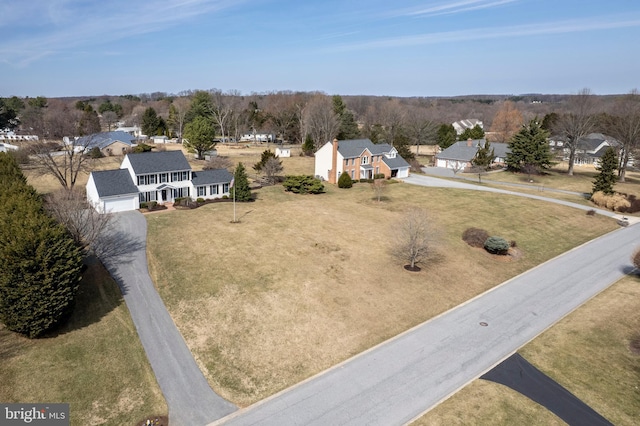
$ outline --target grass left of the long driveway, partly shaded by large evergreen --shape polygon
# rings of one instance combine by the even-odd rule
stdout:
[[[70,321],[30,340],[0,325],[0,401],[65,402],[71,424],[134,424],[166,415],[129,311],[101,265],[85,272]]]

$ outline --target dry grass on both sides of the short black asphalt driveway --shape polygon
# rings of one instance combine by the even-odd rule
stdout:
[[[640,277],[628,276],[568,315],[519,352],[615,425],[640,417]],[[564,424],[496,383],[475,380],[415,425]]]

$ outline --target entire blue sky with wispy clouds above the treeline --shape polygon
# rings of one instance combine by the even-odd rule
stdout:
[[[637,0],[2,0],[0,96],[627,93]]]

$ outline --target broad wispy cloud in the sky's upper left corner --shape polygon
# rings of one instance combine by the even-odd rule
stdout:
[[[205,13],[237,5],[232,0],[164,0],[131,2],[115,0],[80,4],[78,0],[58,0],[40,3],[42,9],[36,25],[36,35],[18,40],[5,37],[0,41],[0,55],[5,62],[22,67],[44,56],[71,51],[78,47],[106,44],[136,35],[164,31]],[[29,2],[21,2],[29,3]],[[34,5],[8,7],[7,20],[22,18],[34,11]],[[34,19],[32,15],[31,20]],[[13,21],[15,23],[15,20]],[[33,21],[32,21],[33,22]]]

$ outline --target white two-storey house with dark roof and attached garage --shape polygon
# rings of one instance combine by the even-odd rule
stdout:
[[[87,200],[99,212],[121,212],[142,202],[222,198],[232,177],[225,169],[192,171],[182,151],[127,154],[119,170],[91,172]]]

